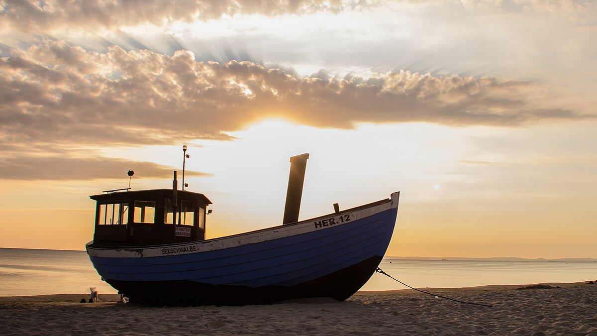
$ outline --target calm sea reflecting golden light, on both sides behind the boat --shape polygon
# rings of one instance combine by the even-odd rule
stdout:
[[[462,261],[384,258],[380,268],[415,288],[520,285],[597,280],[597,262]],[[0,248],[0,296],[99,294],[117,291],[100,279],[85,251]],[[373,274],[363,291],[404,289],[395,280]]]

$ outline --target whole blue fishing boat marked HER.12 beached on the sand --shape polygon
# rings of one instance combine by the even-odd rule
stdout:
[[[85,245],[101,279],[131,302],[169,306],[343,301],[381,262],[392,238],[399,192],[298,221],[309,154],[291,157],[282,225],[205,239],[211,201],[172,189],[110,190],[96,201]],[[184,166],[184,164],[183,164]],[[183,169],[184,176],[184,169]]]

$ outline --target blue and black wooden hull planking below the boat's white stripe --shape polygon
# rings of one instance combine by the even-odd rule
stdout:
[[[355,210],[350,213],[353,220],[341,225],[323,227],[321,220],[312,219],[238,239],[206,240],[195,247],[157,246],[121,255],[91,245],[88,253],[107,283],[138,302],[239,305],[309,297],[345,300],[371,277],[392,238],[397,197],[395,207],[383,206],[377,206],[378,212]],[[359,215],[364,211],[374,213]],[[349,216],[343,213],[331,216]],[[259,241],[283,230],[296,234]],[[241,243],[234,246],[236,241]],[[148,256],[150,252],[161,255]]]

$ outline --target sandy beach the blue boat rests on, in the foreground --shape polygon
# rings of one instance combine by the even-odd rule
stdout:
[[[86,294],[0,297],[0,330],[3,335],[597,335],[597,284],[542,285],[423,289],[493,307],[411,289],[358,292],[342,303],[311,300],[244,307],[79,303]],[[100,298],[117,301],[119,295]]]

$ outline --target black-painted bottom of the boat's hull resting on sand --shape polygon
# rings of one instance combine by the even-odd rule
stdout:
[[[229,286],[208,283],[177,281],[120,281],[107,283],[125,294],[131,302],[168,306],[242,306],[245,304],[271,304],[300,298],[327,297],[344,301],[369,280],[381,262],[373,256],[358,264],[298,285],[284,286]]]

